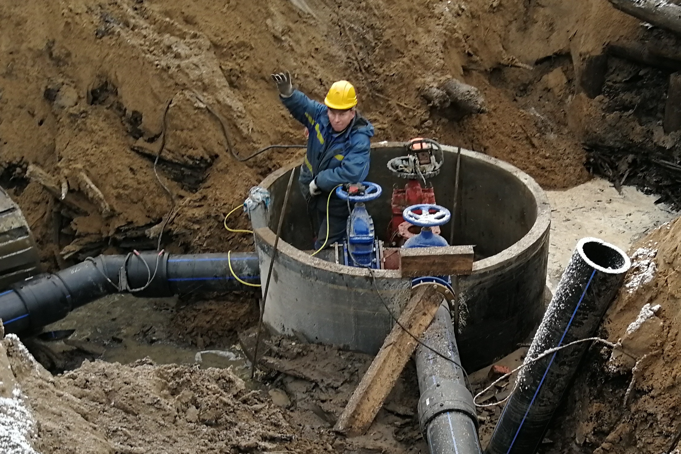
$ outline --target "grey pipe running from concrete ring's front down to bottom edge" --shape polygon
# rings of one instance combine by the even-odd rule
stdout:
[[[423,343],[460,363],[454,327],[445,304],[422,338]],[[429,348],[416,349],[419,421],[431,454],[481,454],[473,395],[462,369]]]

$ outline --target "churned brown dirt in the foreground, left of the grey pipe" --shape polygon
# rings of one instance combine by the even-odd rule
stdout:
[[[369,433],[346,439],[330,427],[371,358],[285,339],[268,345],[276,349],[268,351],[268,374],[279,378],[265,376],[270,385],[249,389],[229,369],[148,359],[86,361],[52,377],[16,337],[2,341],[42,454],[424,452],[413,365]]]

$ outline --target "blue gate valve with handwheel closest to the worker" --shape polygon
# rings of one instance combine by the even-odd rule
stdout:
[[[380,197],[383,189],[371,182],[362,182],[361,185],[364,190],[355,195],[344,187],[336,188],[336,195],[339,199],[355,204],[355,208],[347,218],[347,240],[343,242],[345,265],[380,268],[381,263],[377,259],[379,244],[376,240],[374,221],[366,211],[364,202]]]

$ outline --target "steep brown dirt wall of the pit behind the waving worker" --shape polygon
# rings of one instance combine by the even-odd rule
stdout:
[[[545,187],[569,187],[587,178],[584,152],[567,123],[557,121],[552,132],[541,116],[563,115],[575,91],[571,68],[565,67],[565,89],[554,90],[556,106],[545,112],[527,110],[526,97],[510,87],[522,79],[543,93],[537,82],[544,69],[520,67],[570,53],[578,61],[603,42],[637,33],[637,22],[607,1],[578,3],[566,9],[557,0],[542,7],[521,0],[5,2],[0,180],[27,214],[46,266],[58,250],[78,260],[116,247],[151,247],[145,232],[171,206],[151,165],[165,131],[159,172],[178,208],[168,227],[170,248],[244,247],[247,240],[221,229],[221,216],[302,151],[274,150],[240,163],[227,148],[247,155],[267,144],[302,142],[300,125],[269,80],[287,68],[318,99],[332,80],[355,82],[375,140],[430,135],[510,161]],[[493,86],[494,71],[515,71],[511,85]],[[458,124],[430,114],[419,90],[450,76],[478,86],[489,113]],[[229,144],[204,102],[224,120]],[[31,163],[66,180],[72,193],[91,196],[84,172],[112,216],[96,204],[84,213],[59,203],[52,210],[52,197],[23,177]]]

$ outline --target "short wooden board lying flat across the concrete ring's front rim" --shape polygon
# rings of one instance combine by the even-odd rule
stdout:
[[[400,248],[402,276],[451,276],[473,274],[473,246]]]

